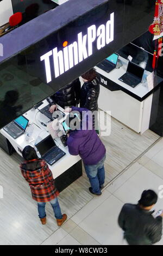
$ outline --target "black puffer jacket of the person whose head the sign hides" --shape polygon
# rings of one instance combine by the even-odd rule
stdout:
[[[76,106],[80,100],[80,80],[79,78],[54,93],[53,96],[48,97],[47,101],[52,106],[58,104],[62,108],[65,106]]]

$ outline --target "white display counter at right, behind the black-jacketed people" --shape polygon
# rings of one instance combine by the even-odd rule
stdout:
[[[98,107],[111,111],[111,116],[126,124],[135,132],[142,134],[149,128],[153,91],[156,88],[148,86],[147,76],[151,73],[145,70],[142,82],[135,88],[118,80],[126,73],[128,60],[119,56],[122,62],[120,68],[110,73],[95,67],[101,75],[101,88]]]

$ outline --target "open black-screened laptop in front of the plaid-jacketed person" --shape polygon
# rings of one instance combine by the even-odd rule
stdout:
[[[48,135],[35,146],[39,151],[41,158],[44,159],[49,165],[56,163],[66,154],[55,144],[51,135]]]

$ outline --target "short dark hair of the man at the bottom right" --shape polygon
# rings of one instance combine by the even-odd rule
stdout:
[[[139,200],[139,204],[147,207],[156,204],[158,200],[158,195],[151,189],[144,190],[141,194],[141,199]]]

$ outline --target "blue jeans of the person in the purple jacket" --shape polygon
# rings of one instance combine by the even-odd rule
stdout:
[[[105,181],[104,161],[106,155],[95,165],[84,165],[86,175],[91,183],[92,192],[95,194],[101,193],[101,187]]]

